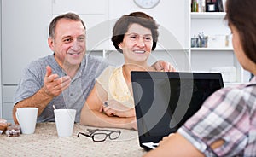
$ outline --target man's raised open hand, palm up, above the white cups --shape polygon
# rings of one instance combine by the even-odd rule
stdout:
[[[69,76],[59,78],[57,74],[52,74],[51,67],[46,67],[43,90],[48,96],[59,96],[63,90],[67,89],[70,82],[71,78]]]

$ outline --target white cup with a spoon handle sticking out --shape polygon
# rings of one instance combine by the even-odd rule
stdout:
[[[70,137],[73,134],[75,109],[55,109],[55,123],[59,137]]]

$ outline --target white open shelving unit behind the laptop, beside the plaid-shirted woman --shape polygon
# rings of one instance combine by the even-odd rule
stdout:
[[[236,59],[230,29],[224,15],[224,12],[190,13],[189,40],[202,32],[208,37],[207,47],[189,49],[191,70],[220,72],[223,74],[225,85],[247,82],[249,75]]]

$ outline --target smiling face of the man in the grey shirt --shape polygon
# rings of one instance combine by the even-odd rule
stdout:
[[[61,19],[55,27],[55,38],[49,38],[55,60],[63,67],[78,67],[85,54],[85,30],[80,21]]]

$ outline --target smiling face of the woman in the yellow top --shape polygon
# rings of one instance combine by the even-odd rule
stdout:
[[[137,23],[131,24],[119,48],[123,50],[125,63],[146,63],[153,46],[152,32]]]

